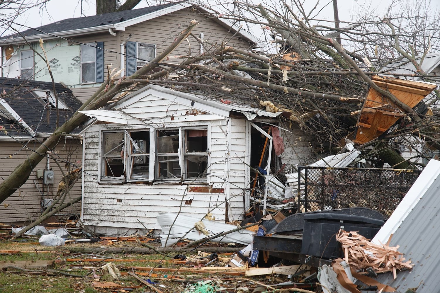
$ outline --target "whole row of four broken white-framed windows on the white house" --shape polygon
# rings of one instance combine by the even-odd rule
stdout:
[[[207,178],[207,128],[106,130],[101,145],[102,180]]]

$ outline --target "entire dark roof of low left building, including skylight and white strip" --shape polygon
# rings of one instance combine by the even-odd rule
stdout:
[[[82,106],[69,88],[55,83],[59,125]],[[0,125],[9,136],[50,134],[56,128],[54,88],[51,82],[0,77]],[[78,131],[79,132],[79,129]],[[4,132],[0,132],[4,136]]]

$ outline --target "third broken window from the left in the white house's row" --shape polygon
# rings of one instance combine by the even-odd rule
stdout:
[[[156,179],[180,179],[179,130],[156,133]]]

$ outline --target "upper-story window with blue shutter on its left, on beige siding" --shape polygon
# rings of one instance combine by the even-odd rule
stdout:
[[[156,57],[156,45],[147,43],[127,42],[127,76]]]

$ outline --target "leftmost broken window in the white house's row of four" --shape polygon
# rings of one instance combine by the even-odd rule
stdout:
[[[102,179],[124,178],[124,132],[103,132]]]

